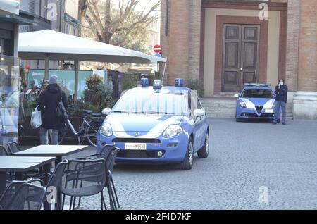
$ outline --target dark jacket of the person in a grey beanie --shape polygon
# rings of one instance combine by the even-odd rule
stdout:
[[[57,84],[49,85],[39,96],[39,111],[42,112],[42,127],[61,130],[63,122],[56,116],[56,108],[61,99],[67,110],[68,100],[66,94]]]

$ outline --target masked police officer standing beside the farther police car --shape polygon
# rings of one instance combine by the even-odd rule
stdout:
[[[286,125],[286,104],[287,104],[287,91],[288,87],[285,85],[284,80],[280,80],[275,87],[275,118],[273,125],[280,121],[280,109],[282,108],[282,124]]]

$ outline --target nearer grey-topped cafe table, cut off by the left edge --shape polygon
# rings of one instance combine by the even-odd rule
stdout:
[[[55,157],[20,157],[1,156],[0,157],[0,194],[6,189],[7,172],[15,172],[15,179],[22,180],[23,173],[35,168],[44,167],[55,161]]]

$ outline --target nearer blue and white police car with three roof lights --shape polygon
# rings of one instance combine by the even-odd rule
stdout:
[[[97,136],[97,151],[105,145],[120,148],[116,162],[180,163],[192,168],[194,154],[209,156],[209,124],[196,92],[163,87],[161,80],[142,79],[142,87],[128,90],[107,115]]]

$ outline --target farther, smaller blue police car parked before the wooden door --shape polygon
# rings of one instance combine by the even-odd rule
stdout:
[[[236,95],[236,120],[274,119],[275,95],[270,84],[246,83]]]

